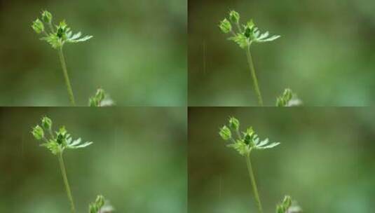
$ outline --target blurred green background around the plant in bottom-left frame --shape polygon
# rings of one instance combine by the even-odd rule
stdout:
[[[158,107],[1,108],[0,212],[69,212],[57,157],[29,133],[43,115],[94,142],[64,151],[77,212],[99,193],[116,212],[186,212],[186,109]]]

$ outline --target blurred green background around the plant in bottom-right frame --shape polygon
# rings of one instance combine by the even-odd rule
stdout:
[[[190,108],[189,212],[257,212],[245,158],[225,146],[229,116],[261,139],[281,142],[252,153],[264,212],[292,195],[304,212],[373,212],[374,109]]]

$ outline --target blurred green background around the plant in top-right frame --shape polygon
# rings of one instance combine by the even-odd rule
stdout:
[[[245,51],[217,27],[233,9],[261,32],[252,46],[264,102],[291,88],[306,106],[375,103],[375,1],[189,0],[189,106],[257,106]]]

